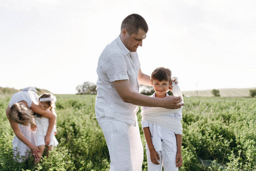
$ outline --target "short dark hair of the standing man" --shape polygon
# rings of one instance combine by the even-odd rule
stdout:
[[[139,29],[148,32],[148,24],[139,14],[128,15],[121,24],[121,30],[126,29],[128,34],[138,34]]]

